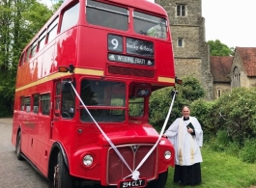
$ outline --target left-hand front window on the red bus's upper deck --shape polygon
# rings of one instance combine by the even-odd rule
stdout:
[[[88,0],[86,20],[92,25],[127,31],[128,9]]]

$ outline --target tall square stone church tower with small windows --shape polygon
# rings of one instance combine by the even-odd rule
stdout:
[[[156,3],[169,15],[178,78],[195,76],[205,89],[206,98],[213,99],[213,75],[201,0],[156,0]]]

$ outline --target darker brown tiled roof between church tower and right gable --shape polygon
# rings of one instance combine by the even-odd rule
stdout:
[[[230,82],[231,66],[233,62],[232,56],[211,56],[210,66],[213,74],[213,82]]]

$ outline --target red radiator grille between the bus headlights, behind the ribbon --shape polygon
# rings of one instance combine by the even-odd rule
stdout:
[[[153,145],[130,145],[118,147],[118,150],[127,161],[129,168],[134,171],[151,148],[153,148]],[[156,153],[155,148],[144,164],[138,169],[140,177],[153,179],[156,176]],[[107,157],[106,178],[109,185],[115,185],[119,180],[122,180],[124,177],[131,174],[128,167],[113,148],[109,148]],[[130,177],[131,176],[128,178]]]

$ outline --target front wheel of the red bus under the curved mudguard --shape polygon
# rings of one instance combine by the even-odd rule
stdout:
[[[71,175],[66,166],[61,152],[58,154],[58,163],[54,167],[54,187],[71,188]]]

